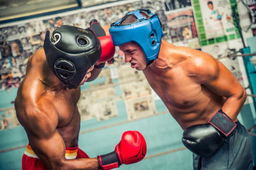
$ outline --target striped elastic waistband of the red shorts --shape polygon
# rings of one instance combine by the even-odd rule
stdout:
[[[38,158],[38,156],[33,152],[33,149],[30,145],[26,147],[26,150],[24,152],[28,157]],[[76,147],[66,147],[65,149],[65,158],[66,159],[75,159],[78,155],[78,145]]]

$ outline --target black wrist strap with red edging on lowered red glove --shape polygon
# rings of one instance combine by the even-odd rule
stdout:
[[[115,151],[110,152],[109,154],[99,155],[97,159],[100,165],[100,170],[114,169],[121,165],[119,157]]]

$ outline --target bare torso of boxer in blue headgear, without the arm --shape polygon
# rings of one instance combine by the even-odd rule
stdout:
[[[159,57],[143,71],[146,79],[183,130],[206,123],[223,106],[225,98],[214,94],[191,74],[191,63],[196,60],[196,54],[189,56],[190,52],[186,52],[182,55],[174,50],[173,45],[163,44],[161,48],[165,50],[161,51],[165,53],[160,52]]]

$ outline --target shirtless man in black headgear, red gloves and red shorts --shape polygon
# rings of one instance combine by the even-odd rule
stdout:
[[[146,141],[137,131],[124,132],[110,154],[89,158],[78,148],[80,85],[100,74],[95,64],[114,55],[110,36],[103,42],[97,31],[61,26],[48,31],[43,48],[29,57],[15,100],[29,142],[22,169],[114,169],[145,157]]]

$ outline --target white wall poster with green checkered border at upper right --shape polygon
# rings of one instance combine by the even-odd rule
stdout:
[[[232,6],[236,6],[236,1],[191,0],[191,2],[201,46],[240,38],[232,15]]]

